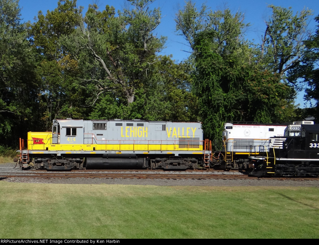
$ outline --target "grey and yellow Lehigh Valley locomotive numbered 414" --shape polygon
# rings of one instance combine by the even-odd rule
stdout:
[[[20,168],[47,170],[197,168],[211,143],[200,122],[53,120],[51,132],[20,139]]]

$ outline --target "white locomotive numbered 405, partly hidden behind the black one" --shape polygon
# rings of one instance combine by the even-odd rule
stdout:
[[[251,169],[249,156],[258,156],[269,150],[269,139],[274,136],[296,136],[301,124],[313,121],[297,121],[293,124],[263,124],[257,122],[227,122],[223,131],[223,149],[215,153],[212,167],[221,169]],[[218,154],[218,155],[217,155]]]

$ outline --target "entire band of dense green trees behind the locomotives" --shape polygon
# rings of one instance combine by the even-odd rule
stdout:
[[[156,35],[154,0],[128,2],[83,13],[76,0],[59,0],[21,23],[18,1],[0,0],[0,145],[72,117],[199,120],[218,149],[226,121],[302,120],[293,104],[300,78],[318,101],[318,31],[305,29],[311,11],[293,16],[270,5],[262,43],[253,44],[240,12],[186,2],[176,30],[192,53],[176,63],[159,55],[166,38]]]

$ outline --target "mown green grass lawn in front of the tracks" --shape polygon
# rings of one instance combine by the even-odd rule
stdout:
[[[319,188],[0,181],[0,238],[319,238]]]

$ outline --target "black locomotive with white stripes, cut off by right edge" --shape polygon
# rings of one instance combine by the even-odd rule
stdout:
[[[252,176],[319,176],[319,124],[301,124],[297,136],[271,137],[269,151],[249,156]],[[288,134],[289,135],[289,134]]]

